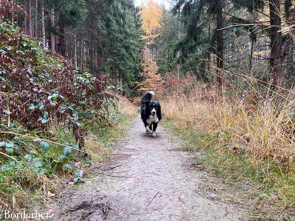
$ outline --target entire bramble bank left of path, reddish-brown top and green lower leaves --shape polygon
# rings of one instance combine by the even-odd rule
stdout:
[[[19,191],[48,197],[57,173],[73,173],[71,158],[91,154],[84,149],[89,121],[109,125],[113,96],[104,75],[73,70],[10,23],[0,23],[0,42],[0,198],[8,208],[17,197],[17,208],[28,199]],[[59,127],[68,137],[52,129]]]

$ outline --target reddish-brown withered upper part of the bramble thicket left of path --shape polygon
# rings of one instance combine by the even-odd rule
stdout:
[[[46,131],[50,123],[66,121],[83,147],[80,119],[101,108],[105,77],[80,74],[61,56],[45,54],[20,29],[7,23],[0,28],[1,122]]]

